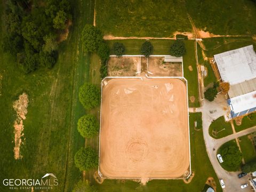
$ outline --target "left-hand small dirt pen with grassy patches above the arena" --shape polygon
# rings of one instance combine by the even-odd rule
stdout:
[[[108,60],[108,76],[135,76],[140,57],[110,57]]]

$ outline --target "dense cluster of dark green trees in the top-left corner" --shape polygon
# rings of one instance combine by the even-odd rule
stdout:
[[[58,56],[58,37],[71,20],[68,0],[8,0],[4,11],[3,49],[27,74],[52,68]]]

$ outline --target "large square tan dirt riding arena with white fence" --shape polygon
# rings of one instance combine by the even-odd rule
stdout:
[[[102,177],[182,178],[189,174],[187,89],[175,78],[103,82]]]

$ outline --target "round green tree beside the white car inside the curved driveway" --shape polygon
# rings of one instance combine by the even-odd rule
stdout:
[[[238,167],[242,163],[243,155],[237,146],[228,146],[221,151],[223,164]]]

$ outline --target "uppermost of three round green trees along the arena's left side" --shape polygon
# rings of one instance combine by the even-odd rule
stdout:
[[[100,89],[89,83],[85,83],[79,89],[79,101],[86,110],[100,105]]]

